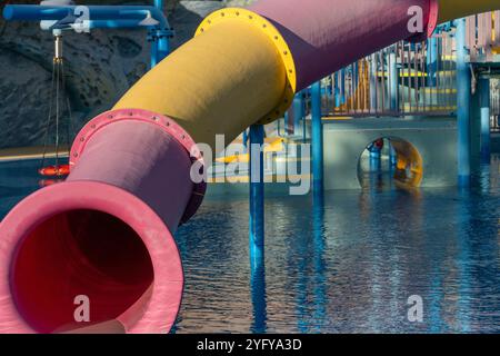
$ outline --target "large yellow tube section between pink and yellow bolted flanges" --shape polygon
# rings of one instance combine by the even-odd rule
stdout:
[[[114,106],[163,113],[197,142],[232,141],[282,100],[286,68],[260,29],[227,19],[188,41],[142,77]]]

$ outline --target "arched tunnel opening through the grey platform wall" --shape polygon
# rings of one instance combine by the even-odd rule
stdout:
[[[423,178],[423,162],[417,148],[396,137],[380,137],[361,152],[358,179],[362,189],[413,189]]]

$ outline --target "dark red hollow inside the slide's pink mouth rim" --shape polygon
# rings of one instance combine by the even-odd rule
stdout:
[[[46,219],[20,240],[10,287],[36,332],[72,333],[117,322],[131,306],[148,303],[153,278],[148,249],[129,225],[80,209]]]

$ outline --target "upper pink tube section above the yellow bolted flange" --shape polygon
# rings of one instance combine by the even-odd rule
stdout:
[[[424,33],[408,30],[413,6],[423,9]],[[438,10],[436,0],[261,0],[250,9],[271,20],[287,40],[298,90],[399,40],[424,39]]]

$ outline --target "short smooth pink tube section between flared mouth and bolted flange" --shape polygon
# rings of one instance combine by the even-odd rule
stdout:
[[[91,135],[83,129],[84,149],[67,180],[94,180],[128,190],[157,211],[173,234],[193,190],[189,154],[153,120],[132,116],[108,122]]]

